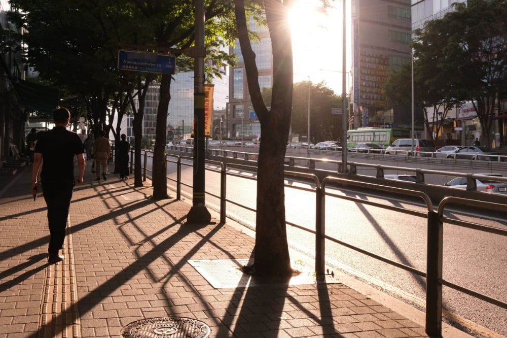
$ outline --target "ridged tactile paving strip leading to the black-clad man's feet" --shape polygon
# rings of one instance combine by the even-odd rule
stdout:
[[[38,338],[81,337],[72,235],[67,227],[63,261],[46,268]]]

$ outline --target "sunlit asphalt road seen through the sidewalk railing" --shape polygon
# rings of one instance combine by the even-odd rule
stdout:
[[[187,162],[187,164],[190,163]],[[207,168],[213,168],[213,166],[208,165]],[[168,176],[173,179],[176,177],[175,165],[171,163],[168,165]],[[255,209],[256,181],[251,178],[255,178],[255,174],[239,170],[228,172],[227,199]],[[184,165],[182,181],[192,185],[192,179],[192,168]],[[297,181],[287,183],[312,188],[309,183]],[[170,182],[169,186],[174,186],[174,183]],[[192,195],[191,188],[184,186],[182,189],[184,195]],[[206,191],[215,195],[220,194],[218,173],[206,171]],[[419,200],[408,199],[404,196],[372,196],[358,190],[345,189],[335,192],[338,195],[377,200],[386,206],[425,211],[425,207]],[[206,203],[209,208],[218,210],[219,201],[215,197],[207,195]],[[311,230],[315,229],[315,195],[313,193],[287,187],[285,205],[287,222],[305,226]],[[425,218],[337,197],[326,198],[325,211],[326,234],[358,248],[425,271],[427,250]],[[227,215],[255,229],[255,212],[228,202]],[[474,210],[466,210],[464,212],[450,211],[447,215],[507,229],[505,214],[490,217],[477,214]],[[313,234],[288,226],[287,236],[289,245],[313,255],[315,250]],[[444,225],[443,245],[443,278],[445,280],[501,301],[507,301],[506,238],[447,224]],[[403,298],[413,306],[424,307],[426,287],[424,278],[330,241],[326,242],[325,248],[326,264]],[[443,295],[444,309],[451,312],[459,324],[474,327],[476,323],[497,334],[507,335],[507,310],[447,287],[444,287]],[[477,332],[470,333],[480,336]]]

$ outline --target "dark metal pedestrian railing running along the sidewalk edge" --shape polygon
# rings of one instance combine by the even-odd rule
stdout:
[[[172,155],[167,155],[167,156],[172,156]],[[146,163],[147,163],[147,161],[146,161],[147,157],[148,157],[147,152],[144,152],[144,165],[146,165]],[[176,160],[171,161],[168,159],[168,161],[177,164],[177,179],[176,179],[177,188],[176,189],[177,189],[177,195],[178,195],[177,198],[179,199],[180,198],[180,185],[184,184],[181,181],[181,170],[182,170],[182,161],[181,160],[182,160],[182,158],[193,160],[193,157],[186,157],[186,156],[174,156],[174,157],[176,157]],[[250,165],[230,164],[230,163],[225,163],[225,162],[221,162],[221,161],[206,160],[206,162],[210,163],[210,164],[217,165],[220,167],[220,170],[216,170],[214,168],[206,168],[206,170],[220,173],[220,180],[221,180],[220,195],[210,194],[209,192],[206,192],[207,194],[220,199],[220,221],[223,223],[225,223],[225,221],[226,221],[227,203],[247,209],[252,212],[256,212],[255,209],[245,207],[240,202],[230,200],[227,198],[227,176],[237,176],[237,177],[241,177],[242,179],[256,180],[255,178],[252,178],[249,176],[244,176],[244,175],[235,174],[235,173],[228,173],[228,169],[229,168],[239,168],[242,170],[247,170],[249,172],[257,172],[257,167],[250,166]],[[354,165],[357,165],[357,164],[352,163],[351,169],[354,167]],[[373,166],[375,166],[375,165],[373,165]],[[375,166],[375,167],[377,167],[377,175],[378,176],[380,176],[380,174],[383,175],[383,169],[385,169],[386,166]],[[388,167],[388,168],[400,169],[399,167]],[[403,169],[409,170],[411,168],[403,168]],[[148,171],[152,172],[151,170],[148,170]],[[416,171],[417,171],[418,178],[419,178],[419,175],[421,175],[420,181],[422,181],[422,182],[424,182],[424,178],[422,176],[424,174],[442,173],[442,172],[438,172],[438,171],[429,171],[429,170],[416,170]],[[143,179],[146,179],[146,172],[147,172],[147,168],[144,167],[143,168],[143,173],[144,173]],[[456,174],[457,176],[463,175],[460,173],[453,173],[453,175],[454,174]],[[471,229],[475,229],[475,230],[479,230],[479,231],[484,231],[484,232],[488,232],[488,233],[492,233],[492,234],[497,234],[497,235],[501,235],[501,236],[507,236],[507,230],[448,218],[444,215],[444,211],[445,211],[446,207],[451,204],[458,204],[460,206],[470,206],[470,207],[474,207],[474,208],[479,207],[479,208],[483,208],[483,209],[505,212],[504,205],[496,204],[496,203],[492,203],[492,202],[484,202],[484,201],[480,201],[480,200],[464,199],[464,198],[458,198],[458,197],[446,197],[440,202],[440,204],[437,208],[437,211],[434,211],[434,207],[431,202],[431,199],[425,193],[420,192],[420,191],[416,191],[416,190],[388,187],[388,186],[383,186],[383,185],[378,185],[378,184],[347,180],[347,179],[342,179],[342,178],[337,178],[337,177],[326,177],[322,181],[319,181],[317,176],[315,176],[313,174],[305,174],[305,173],[298,173],[298,172],[291,172],[291,171],[286,171],[285,176],[297,177],[300,179],[311,181],[315,185],[315,189],[297,187],[297,186],[288,185],[288,184],[286,184],[285,186],[290,186],[291,188],[294,188],[294,189],[305,190],[305,191],[310,191],[310,192],[315,193],[315,207],[316,207],[316,209],[315,209],[316,210],[315,230],[311,230],[305,226],[294,224],[294,223],[287,222],[287,224],[297,227],[298,229],[315,234],[315,240],[316,240],[315,241],[315,272],[316,272],[317,277],[322,277],[325,275],[325,241],[330,241],[330,242],[339,244],[341,246],[347,247],[349,249],[352,249],[356,252],[365,254],[369,257],[380,260],[382,262],[385,262],[390,265],[396,266],[398,268],[404,269],[405,271],[408,271],[408,272],[413,273],[415,275],[426,278],[425,331],[426,331],[426,334],[428,334],[429,336],[442,336],[442,286],[443,285],[450,287],[454,290],[466,293],[470,296],[487,301],[495,306],[501,307],[503,309],[507,309],[506,302],[500,301],[498,299],[495,299],[493,297],[489,297],[489,296],[482,294],[480,292],[470,290],[470,289],[467,289],[466,287],[446,281],[442,277],[443,276],[443,274],[442,274],[442,271],[443,271],[443,227],[444,227],[445,223],[455,224],[458,226],[471,228]],[[474,176],[481,176],[481,175],[468,174],[466,177],[474,177]],[[170,179],[170,178],[168,178],[168,179]],[[326,190],[325,190],[326,187],[331,184],[338,185],[338,186],[347,186],[349,189],[351,186],[354,186],[354,187],[358,187],[358,188],[367,188],[372,191],[382,191],[382,192],[389,192],[389,193],[394,193],[394,194],[403,194],[403,195],[410,195],[413,197],[419,197],[423,200],[423,202],[426,206],[426,212],[424,213],[424,212],[419,212],[419,211],[415,211],[415,210],[407,210],[407,209],[395,207],[395,206],[386,206],[384,204],[381,204],[380,202],[369,201],[369,200],[360,199],[357,197],[338,195],[335,193],[326,192]],[[191,187],[190,185],[187,185],[187,184],[184,184],[184,185]],[[388,259],[386,257],[377,255],[375,253],[369,252],[365,249],[361,249],[361,248],[351,245],[349,243],[340,241],[330,235],[327,235],[325,233],[325,198],[327,198],[327,197],[346,199],[346,200],[354,201],[354,202],[360,203],[360,204],[372,205],[375,207],[388,209],[388,210],[392,210],[392,211],[403,213],[403,214],[409,214],[412,216],[425,218],[426,219],[426,228],[427,228],[426,271],[420,271],[412,266],[393,261],[393,260]]]

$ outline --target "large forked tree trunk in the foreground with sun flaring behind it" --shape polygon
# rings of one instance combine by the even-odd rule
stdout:
[[[235,0],[241,52],[248,90],[259,121],[261,147],[257,177],[256,245],[253,271],[265,276],[292,274],[285,228],[283,164],[292,109],[293,59],[287,22],[288,4],[265,0],[266,18],[273,48],[273,91],[268,112],[259,88],[258,70],[246,32],[243,0]]]

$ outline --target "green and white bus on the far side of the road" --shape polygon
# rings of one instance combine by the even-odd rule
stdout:
[[[378,144],[387,148],[396,139],[409,139],[410,129],[365,127],[347,130],[347,148],[358,143]]]

